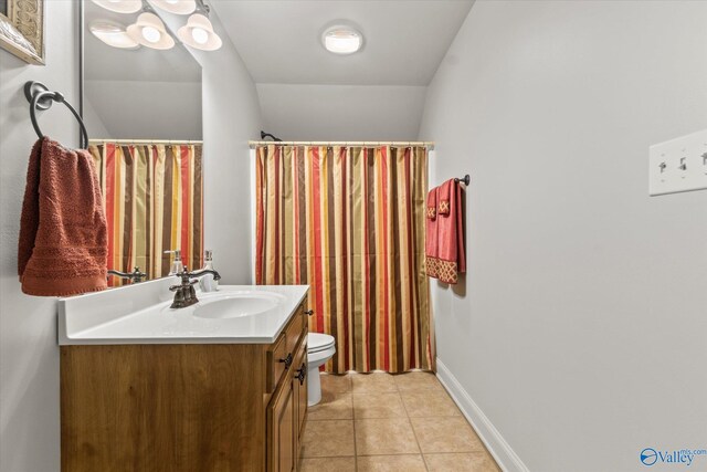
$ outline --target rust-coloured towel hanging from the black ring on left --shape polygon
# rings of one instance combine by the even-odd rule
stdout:
[[[18,273],[28,295],[106,289],[108,239],[101,187],[86,150],[44,137],[30,155]]]

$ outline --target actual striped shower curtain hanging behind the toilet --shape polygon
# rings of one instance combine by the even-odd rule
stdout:
[[[256,283],[308,284],[326,370],[431,369],[424,147],[260,146]]]

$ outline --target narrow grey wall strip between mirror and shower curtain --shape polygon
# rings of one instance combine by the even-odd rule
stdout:
[[[210,19],[224,31],[214,12]],[[223,48],[192,54],[202,66],[204,243],[213,250],[221,283],[251,283],[250,139],[260,139],[255,84],[223,35]]]

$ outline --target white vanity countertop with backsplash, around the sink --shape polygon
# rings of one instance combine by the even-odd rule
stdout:
[[[61,298],[59,344],[270,344],[309,290],[308,285],[221,285],[218,292],[198,292],[199,303],[175,310],[169,307],[173,294],[168,290],[175,282],[167,277]],[[266,310],[225,318],[194,315],[215,301],[250,294],[266,298]]]

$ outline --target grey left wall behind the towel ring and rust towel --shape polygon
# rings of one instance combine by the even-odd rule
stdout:
[[[0,50],[0,471],[60,469],[59,347],[55,298],[23,295],[18,282],[20,208],[29,154],[36,140],[22,87],[44,82],[78,104],[75,2],[44,2],[46,65],[28,65]],[[67,146],[78,126],[62,105],[40,118]]]

